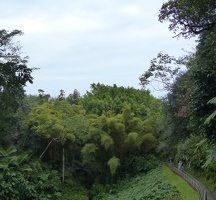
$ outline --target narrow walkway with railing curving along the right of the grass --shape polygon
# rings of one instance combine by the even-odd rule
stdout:
[[[199,181],[193,178],[184,170],[178,170],[173,163],[165,163],[172,171],[181,176],[185,181],[192,185],[199,193],[201,200],[214,200],[212,193]]]

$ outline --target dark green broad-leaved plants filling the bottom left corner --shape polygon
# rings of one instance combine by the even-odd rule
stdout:
[[[45,172],[37,160],[26,153],[18,153],[13,146],[0,148],[0,198],[59,199],[60,178],[56,171]]]

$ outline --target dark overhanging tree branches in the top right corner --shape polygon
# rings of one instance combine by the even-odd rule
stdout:
[[[163,3],[160,9],[159,21],[169,21],[169,30],[177,34],[176,36],[187,38],[198,35],[211,30],[216,25],[216,2],[214,0],[169,0]]]

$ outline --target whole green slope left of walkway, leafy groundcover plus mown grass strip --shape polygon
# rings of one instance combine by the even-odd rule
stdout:
[[[180,185],[179,190],[173,185],[170,178],[172,180],[176,178]],[[182,191],[182,188],[184,191]],[[148,174],[141,174],[115,184],[109,191],[100,192],[93,200],[196,200],[198,198],[196,191],[183,179],[173,174],[168,168],[161,168],[160,166],[151,170]]]

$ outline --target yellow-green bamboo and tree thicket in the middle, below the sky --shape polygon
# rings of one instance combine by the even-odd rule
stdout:
[[[75,96],[65,97],[63,90],[56,99],[39,92],[26,96],[30,109],[19,143],[61,173],[68,188],[71,179],[90,189],[155,166],[162,105],[148,91],[98,83],[73,101]]]

